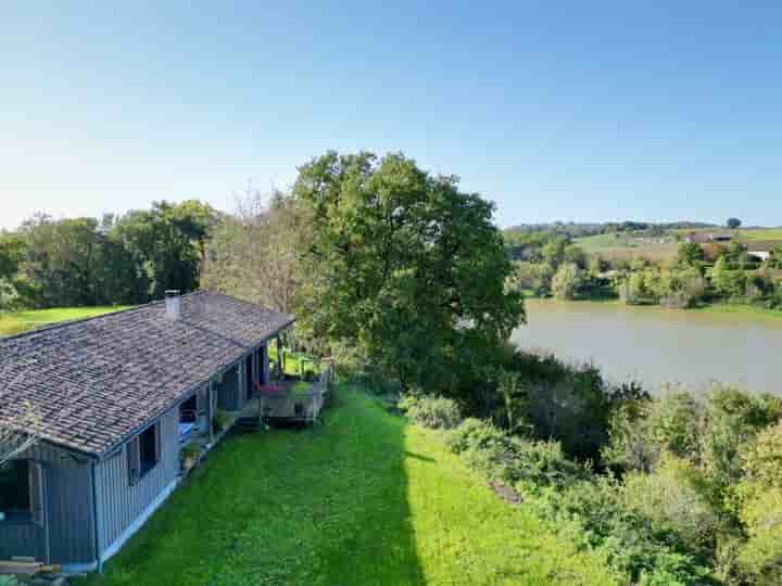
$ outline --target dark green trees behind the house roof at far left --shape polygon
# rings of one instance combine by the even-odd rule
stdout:
[[[218,215],[198,201],[123,216],[39,215],[0,234],[0,310],[139,304],[199,286]]]

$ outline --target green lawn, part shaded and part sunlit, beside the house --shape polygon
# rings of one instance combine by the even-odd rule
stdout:
[[[218,446],[87,585],[613,584],[432,432],[341,387],[314,428]]]

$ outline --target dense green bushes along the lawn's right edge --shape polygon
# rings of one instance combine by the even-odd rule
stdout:
[[[517,421],[462,419],[450,399],[405,397],[416,424],[501,496],[534,510],[620,583],[782,584],[782,399],[716,387],[613,402],[595,459]],[[565,437],[565,440],[571,440]]]

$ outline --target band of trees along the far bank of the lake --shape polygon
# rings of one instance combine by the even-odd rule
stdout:
[[[507,246],[513,286],[533,296],[618,297],[627,304],[686,308],[717,302],[782,307],[782,245],[766,260],[739,242],[683,242],[667,260],[605,259],[586,255],[567,235],[527,232]]]

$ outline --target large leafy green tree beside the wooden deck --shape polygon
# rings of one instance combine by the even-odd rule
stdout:
[[[402,154],[330,152],[299,170],[302,327],[361,348],[404,388],[453,393],[524,319],[494,207]]]

